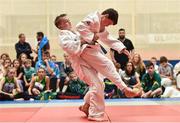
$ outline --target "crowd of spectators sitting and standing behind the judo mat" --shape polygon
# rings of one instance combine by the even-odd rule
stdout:
[[[136,98],[180,97],[180,62],[173,66],[161,56],[159,64],[156,57],[145,64],[133,42],[126,38],[125,29],[119,29],[118,34],[130,55],[110,49],[111,60],[125,84],[133,91],[141,91]],[[73,70],[68,54],[64,53],[64,61],[58,62],[50,54],[48,40],[40,46],[44,37],[43,32],[37,32],[37,47],[33,49],[21,33],[15,44],[16,59],[8,53],[1,54],[0,100],[75,99],[88,92],[88,85]],[[33,52],[37,55],[32,56]],[[38,60],[40,54],[42,59]],[[127,98],[106,76],[100,76],[105,98]]]

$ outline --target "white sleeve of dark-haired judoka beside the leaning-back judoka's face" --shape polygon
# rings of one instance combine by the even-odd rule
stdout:
[[[91,43],[94,34],[99,31],[98,13],[91,13],[85,17],[76,25],[76,30],[80,33],[84,41]]]

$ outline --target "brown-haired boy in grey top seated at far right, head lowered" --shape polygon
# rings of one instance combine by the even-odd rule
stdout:
[[[171,86],[173,80],[173,71],[168,59],[165,56],[160,57],[159,74],[161,75],[161,85],[164,87]]]

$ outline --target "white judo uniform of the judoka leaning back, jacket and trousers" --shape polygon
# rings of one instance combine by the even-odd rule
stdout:
[[[105,110],[103,80],[98,76],[98,72],[80,57],[87,45],[81,47],[79,35],[68,30],[60,30],[59,44],[69,54],[76,74],[89,85],[89,91],[84,97],[85,103],[90,104],[89,116],[103,117]]]

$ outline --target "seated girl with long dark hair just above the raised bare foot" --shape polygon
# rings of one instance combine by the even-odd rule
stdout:
[[[125,84],[132,88],[133,90],[140,91],[142,90],[139,74],[135,72],[135,68],[132,62],[128,62],[125,66],[125,71],[121,72],[121,78]],[[140,95],[136,97],[140,97]]]

